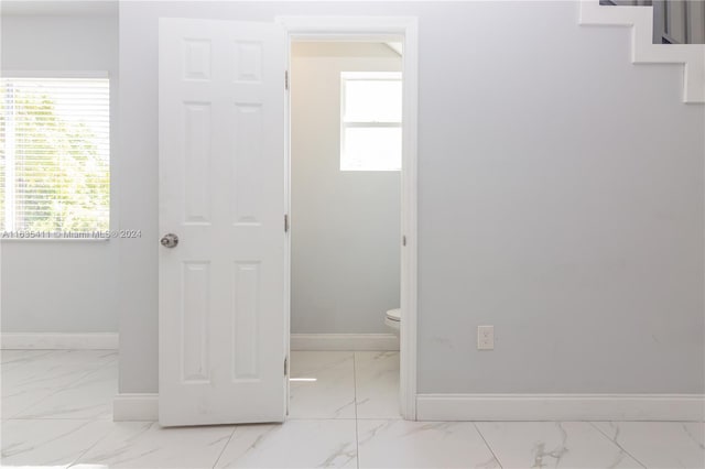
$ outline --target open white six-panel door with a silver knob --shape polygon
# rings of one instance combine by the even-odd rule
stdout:
[[[164,426],[285,417],[284,67],[273,23],[160,21]]]

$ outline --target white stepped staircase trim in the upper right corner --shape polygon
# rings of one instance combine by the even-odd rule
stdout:
[[[603,7],[599,0],[582,0],[581,24],[631,26],[631,62],[684,64],[683,101],[705,102],[705,45],[653,44],[652,7]]]

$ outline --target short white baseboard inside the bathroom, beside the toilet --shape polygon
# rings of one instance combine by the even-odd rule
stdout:
[[[393,334],[292,334],[292,350],[399,350]]]

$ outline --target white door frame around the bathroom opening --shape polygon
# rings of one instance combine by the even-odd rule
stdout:
[[[416,419],[416,323],[417,323],[417,100],[419,25],[412,17],[278,17],[286,34],[286,70],[291,67],[291,47],[295,41],[389,41],[402,40],[403,111],[401,170],[401,308],[400,324],[400,403],[401,415]],[[291,94],[285,100],[285,208],[291,214]],[[291,338],[291,237],[286,237],[284,261],[284,314],[288,327],[286,350]],[[380,316],[381,321],[381,316]]]

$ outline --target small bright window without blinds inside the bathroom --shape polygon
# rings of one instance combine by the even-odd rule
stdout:
[[[401,73],[343,72],[340,171],[401,170]]]

